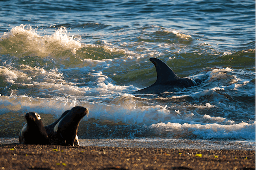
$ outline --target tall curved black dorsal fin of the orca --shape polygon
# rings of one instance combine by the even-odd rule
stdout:
[[[174,71],[167,66],[164,62],[157,58],[149,59],[156,67],[157,79],[154,84],[169,84],[173,80],[180,79]]]

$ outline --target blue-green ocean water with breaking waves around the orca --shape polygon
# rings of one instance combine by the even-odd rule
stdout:
[[[27,112],[48,125],[83,106],[85,141],[255,145],[253,0],[4,0],[0,18],[1,138],[17,138]],[[156,81],[151,57],[207,79],[133,93]]]

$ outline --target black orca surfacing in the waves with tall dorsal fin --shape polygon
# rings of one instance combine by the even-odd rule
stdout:
[[[149,59],[156,68],[157,79],[151,86],[135,91],[134,93],[160,94],[165,91],[179,91],[184,88],[198,86],[202,79],[191,79],[189,77],[178,77],[174,71],[158,58]]]

